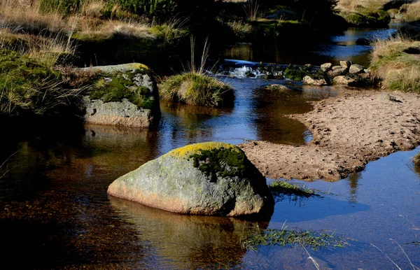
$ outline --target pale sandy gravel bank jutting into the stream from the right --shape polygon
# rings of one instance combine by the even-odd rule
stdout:
[[[350,92],[290,115],[313,134],[307,145],[251,141],[239,145],[267,177],[339,180],[367,162],[420,143],[420,96],[402,92]]]

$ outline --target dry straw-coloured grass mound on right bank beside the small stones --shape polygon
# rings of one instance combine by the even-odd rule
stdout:
[[[377,41],[370,69],[386,89],[420,93],[420,57],[405,53],[407,48],[420,48],[420,42],[401,37]]]

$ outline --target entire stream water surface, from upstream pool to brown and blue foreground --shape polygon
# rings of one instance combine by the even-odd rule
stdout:
[[[304,54],[241,44],[226,46],[221,55],[279,64],[367,64],[370,48],[356,39],[385,38],[392,31],[349,29]],[[269,222],[176,215],[108,197],[107,187],[119,176],[190,143],[307,143],[306,127],[283,115],[310,111],[309,101],[338,91],[235,72],[218,77],[234,88],[234,108],[162,102],[154,129],[8,129],[0,153],[0,164],[7,159],[0,170],[2,263],[17,269],[316,269],[309,252],[320,269],[420,267],[420,168],[411,161],[419,148],[370,162],[335,183],[292,180],[321,196],[278,197]],[[293,91],[263,89],[274,83]],[[250,229],[283,226],[333,232],[349,246],[241,248]]]

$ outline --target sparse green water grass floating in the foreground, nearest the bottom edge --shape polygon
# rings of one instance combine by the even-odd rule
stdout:
[[[334,234],[311,231],[291,231],[285,229],[258,230],[242,241],[246,250],[257,250],[260,246],[302,246],[312,250],[321,248],[344,248],[348,244]]]

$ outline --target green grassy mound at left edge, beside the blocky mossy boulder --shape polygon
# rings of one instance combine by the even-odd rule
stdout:
[[[70,104],[76,90],[64,90],[58,71],[11,50],[0,50],[0,114],[50,115]]]

